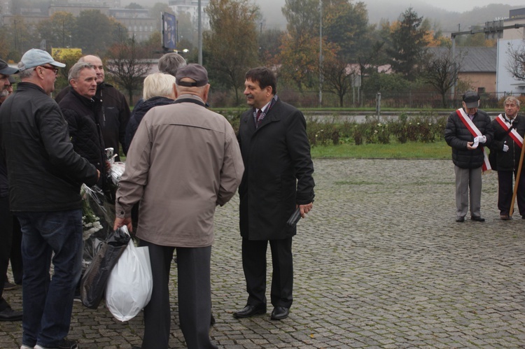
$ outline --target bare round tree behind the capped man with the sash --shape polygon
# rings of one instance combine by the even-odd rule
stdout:
[[[426,83],[432,85],[441,94],[443,108],[447,108],[447,92],[458,81],[463,55],[452,57],[451,48],[435,50],[434,55],[428,55],[423,64],[421,75]]]

